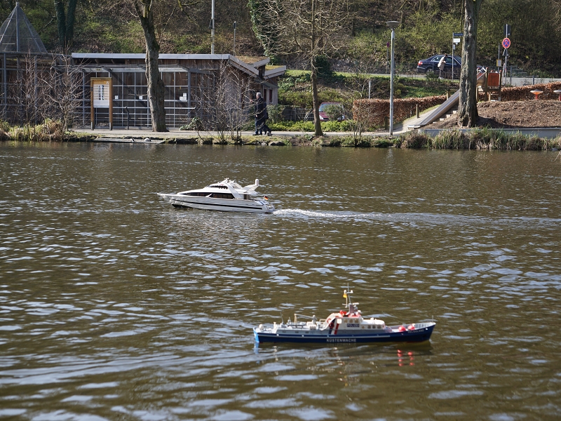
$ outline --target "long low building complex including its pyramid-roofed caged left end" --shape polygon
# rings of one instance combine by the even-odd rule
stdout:
[[[144,59],[143,53],[48,53],[16,3],[0,27],[0,118],[150,127]],[[211,130],[239,127],[250,119],[250,100],[257,91],[276,105],[277,79],[286,69],[269,65],[266,57],[229,54],[161,54],[158,67],[165,84],[166,126],[178,128],[197,117]],[[92,79],[109,89],[101,91],[103,83],[96,97]]]

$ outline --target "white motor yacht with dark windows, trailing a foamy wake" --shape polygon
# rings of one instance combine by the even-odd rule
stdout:
[[[203,187],[175,194],[158,193],[176,208],[196,208],[221,210],[223,212],[272,213],[275,207],[269,203],[267,196],[258,196],[255,184],[241,187],[229,178]]]

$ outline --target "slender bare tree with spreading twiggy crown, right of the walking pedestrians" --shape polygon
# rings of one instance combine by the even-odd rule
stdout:
[[[349,0],[262,0],[255,5],[254,28],[266,51],[297,54],[311,69],[313,126],[323,135],[318,99],[318,58],[337,49],[340,32],[349,21]]]

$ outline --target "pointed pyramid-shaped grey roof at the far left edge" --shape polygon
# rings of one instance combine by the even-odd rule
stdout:
[[[46,53],[43,41],[35,28],[23,13],[20,4],[15,8],[0,27],[0,52],[4,53]]]

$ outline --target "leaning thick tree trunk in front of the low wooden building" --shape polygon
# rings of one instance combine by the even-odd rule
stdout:
[[[156,40],[152,0],[135,1],[135,9],[140,19],[140,25],[144,29],[144,39],[146,40],[146,79],[152,131],[168,131],[165,127],[165,108],[163,106],[165,86],[160,76],[160,69],[158,69],[160,44]]]

